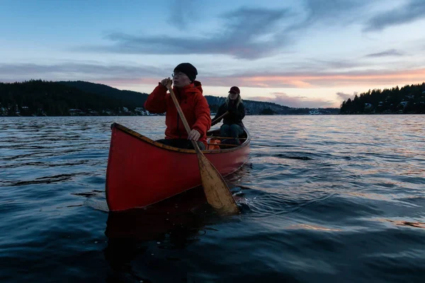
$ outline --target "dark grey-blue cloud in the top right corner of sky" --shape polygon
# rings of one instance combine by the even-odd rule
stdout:
[[[371,18],[364,31],[380,31],[392,25],[412,23],[421,18],[425,18],[425,1],[409,0],[401,8],[394,8]]]

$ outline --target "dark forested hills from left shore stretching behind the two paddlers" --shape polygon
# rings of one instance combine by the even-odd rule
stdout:
[[[122,91],[87,81],[30,80],[0,83],[0,116],[145,115],[147,93]],[[225,97],[205,96],[211,112]],[[290,108],[276,103],[244,100],[251,115],[306,115],[309,108]],[[319,108],[320,114],[338,114],[339,108]]]

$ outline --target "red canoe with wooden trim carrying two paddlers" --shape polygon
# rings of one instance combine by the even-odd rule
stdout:
[[[110,211],[146,207],[201,184],[194,150],[160,144],[116,123],[111,128],[106,170]],[[208,136],[219,132],[208,132]],[[244,132],[244,142],[239,146],[203,151],[223,176],[237,171],[248,160],[251,137],[245,128]]]

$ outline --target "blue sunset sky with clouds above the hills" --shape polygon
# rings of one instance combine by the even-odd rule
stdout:
[[[425,81],[425,0],[0,0],[0,81],[151,93],[177,64],[204,95],[339,107]]]

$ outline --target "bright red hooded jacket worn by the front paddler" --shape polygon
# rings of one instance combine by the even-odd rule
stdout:
[[[179,117],[179,112],[177,112],[173,98],[166,91],[166,87],[159,83],[159,86],[147,97],[145,109],[152,113],[166,112],[166,139],[187,139],[188,133]],[[206,147],[206,133],[211,127],[211,115],[210,107],[203,96],[200,82],[194,81],[183,88],[173,88],[173,91],[176,94],[176,98],[179,101],[184,117],[188,121],[189,127],[196,129],[200,133],[199,141],[203,142]]]

